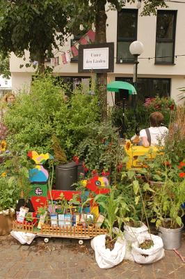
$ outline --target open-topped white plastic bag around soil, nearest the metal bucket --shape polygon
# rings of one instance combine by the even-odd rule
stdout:
[[[139,248],[140,243],[150,239],[150,236],[154,245],[149,249]],[[131,246],[131,254],[134,257],[134,261],[138,264],[152,264],[164,257],[163,241],[160,236],[155,236],[154,234],[142,234],[138,236],[138,241],[132,243]]]

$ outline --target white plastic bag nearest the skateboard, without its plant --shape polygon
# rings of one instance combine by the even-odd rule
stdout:
[[[106,248],[105,243],[106,234],[95,236],[90,242],[91,247],[95,250],[95,259],[100,269],[111,269],[124,259],[126,241],[123,237],[118,236],[113,250]]]

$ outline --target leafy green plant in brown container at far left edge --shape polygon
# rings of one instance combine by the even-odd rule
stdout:
[[[12,228],[17,200],[23,191],[25,195],[29,191],[29,174],[24,155],[17,155],[12,151],[1,153],[1,156],[4,156],[5,160],[0,165],[0,234],[6,234]],[[25,206],[25,203],[22,206]]]

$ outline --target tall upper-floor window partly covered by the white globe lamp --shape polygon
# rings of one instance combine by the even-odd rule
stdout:
[[[118,12],[117,27],[117,63],[132,63],[134,56],[129,46],[137,40],[138,10],[122,9]]]

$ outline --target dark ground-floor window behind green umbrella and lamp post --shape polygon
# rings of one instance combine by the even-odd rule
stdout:
[[[122,80],[122,82],[129,82],[133,84],[132,77],[115,77],[115,80]],[[145,98],[168,97],[170,96],[170,79],[168,78],[138,78],[138,95],[137,99],[145,102]],[[119,103],[122,98],[129,100],[128,91],[120,90],[115,93],[115,103]]]

